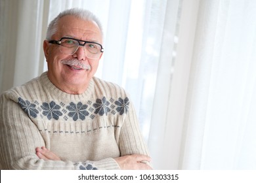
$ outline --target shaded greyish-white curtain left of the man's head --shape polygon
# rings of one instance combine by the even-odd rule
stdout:
[[[1,0],[0,92],[23,84],[43,71],[44,5],[47,1]]]

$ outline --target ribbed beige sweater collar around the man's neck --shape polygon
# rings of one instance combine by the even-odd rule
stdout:
[[[66,92],[62,92],[62,90],[58,89],[54,84],[49,80],[47,76],[47,72],[43,73],[40,76],[41,83],[45,91],[51,95],[53,99],[60,99],[62,101],[83,101],[91,97],[94,90],[94,82],[93,79],[90,80],[89,86],[85,92],[81,94],[70,94]]]

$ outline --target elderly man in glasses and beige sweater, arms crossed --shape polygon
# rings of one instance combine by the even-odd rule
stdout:
[[[49,24],[48,71],[0,98],[1,169],[151,169],[127,93],[94,77],[102,27],[73,8]]]

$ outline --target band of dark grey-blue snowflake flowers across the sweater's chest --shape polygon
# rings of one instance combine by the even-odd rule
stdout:
[[[96,115],[107,116],[109,112],[113,115],[117,112],[119,115],[127,114],[129,103],[128,97],[125,97],[125,99],[119,97],[117,101],[102,97],[102,99],[96,99],[96,101],[87,101],[86,103],[79,101],[78,103],[71,102],[69,104],[55,103],[54,101],[39,103],[38,101],[32,102],[18,97],[18,105],[28,116],[47,118],[48,120],[60,120],[62,118],[66,121],[70,118],[74,121],[93,119]]]

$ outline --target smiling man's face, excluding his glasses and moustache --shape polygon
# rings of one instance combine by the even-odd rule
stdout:
[[[59,41],[62,37],[70,37],[83,41],[92,41],[102,44],[102,34],[98,25],[94,22],[85,22],[74,16],[64,16],[58,22],[58,29],[51,40]],[[83,93],[87,89],[89,80],[95,75],[98,68],[98,59],[90,59],[85,55],[85,49],[79,46],[73,55],[60,52],[60,45],[43,44],[45,58],[48,65],[48,77],[53,84],[66,93]],[[101,55],[100,55],[101,57]],[[77,59],[79,62],[89,65],[91,70],[79,69],[63,64],[62,61]]]

